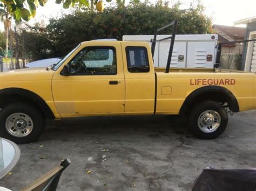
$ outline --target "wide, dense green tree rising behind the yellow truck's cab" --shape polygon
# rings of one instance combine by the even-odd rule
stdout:
[[[201,4],[180,9],[180,3],[171,8],[166,4],[130,3],[106,8],[103,12],[77,10],[59,19],[51,19],[46,27],[53,43],[52,53],[62,56],[82,41],[116,38],[125,34],[153,34],[157,28],[178,19],[178,34],[211,33],[211,18],[204,13]],[[166,29],[161,34],[171,34]]]

